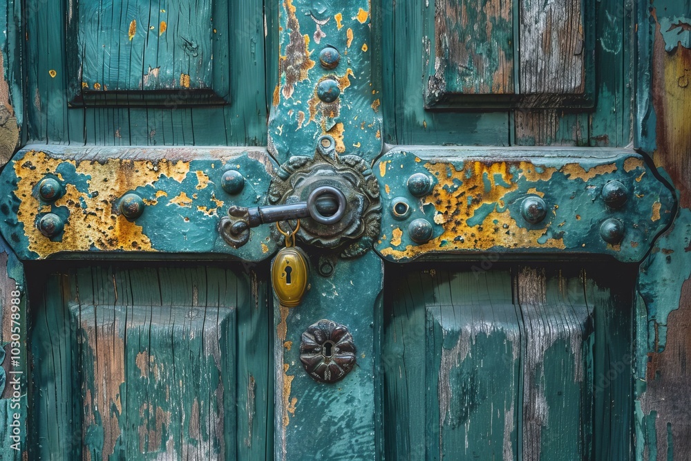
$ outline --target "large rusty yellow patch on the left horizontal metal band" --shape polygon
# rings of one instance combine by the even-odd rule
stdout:
[[[41,168],[22,168],[21,164],[27,161],[41,165]],[[44,174],[55,173],[58,165],[64,162],[74,165],[77,174],[90,179],[87,180],[88,191],[80,192],[74,185],[68,184],[64,195],[55,201],[56,207],[69,209],[70,216],[65,223],[61,241],[53,242],[35,229],[41,207],[31,196]],[[15,194],[21,200],[17,216],[26,229],[28,250],[38,254],[39,258],[59,251],[86,252],[92,247],[103,251],[154,251],[149,237],[142,232],[142,227],[124,218],[115,210],[113,203],[128,191],[153,185],[162,176],[182,182],[188,172],[189,162],[182,161],[160,160],[154,163],[112,158],[103,163],[77,163],[74,160],[50,158],[44,152],[30,151],[22,162],[15,164],[18,178]],[[98,194],[93,194],[96,191]],[[160,195],[157,194],[158,196]]]

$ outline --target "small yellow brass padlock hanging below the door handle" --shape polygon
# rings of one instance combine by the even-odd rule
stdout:
[[[282,248],[271,264],[271,281],[278,302],[289,308],[299,305],[309,276],[310,267],[303,251],[297,247]]]

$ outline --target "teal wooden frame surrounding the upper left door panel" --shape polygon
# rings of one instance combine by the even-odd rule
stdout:
[[[267,67],[266,62],[274,57],[268,59],[265,55],[263,5],[214,3],[218,8],[227,8],[227,19],[216,19],[215,23],[227,21],[228,24],[225,30],[221,26],[216,28],[216,39],[223,41],[222,48],[226,51],[214,56],[214,62],[218,59],[219,66],[223,66],[220,62],[229,62],[232,69],[230,76],[227,73],[217,76],[214,72],[214,79],[229,77],[229,91],[220,95],[232,95],[231,104],[180,109],[189,102],[189,97],[180,93],[167,104],[164,102],[161,109],[68,109],[71,99],[68,45],[63,22],[55,21],[68,17],[67,5],[29,1],[27,9],[31,14],[26,19],[25,60],[26,88],[32,95],[27,100],[26,115],[29,142],[111,146],[266,145],[267,88],[273,91],[276,77],[267,74],[267,69],[272,67]],[[174,30],[170,24],[168,27],[169,32]],[[73,39],[77,37],[70,35],[67,40]],[[51,70],[55,70],[55,77]],[[142,75],[145,70],[141,66],[136,68]],[[179,81],[180,75],[177,78]],[[213,84],[222,86],[221,82]]]

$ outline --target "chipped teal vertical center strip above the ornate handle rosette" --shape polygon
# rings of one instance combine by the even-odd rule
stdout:
[[[285,0],[278,7],[279,81],[269,116],[269,151],[279,162],[311,155],[323,134],[338,153],[374,159],[381,151],[381,95],[373,84],[372,56],[379,48],[370,32],[369,2],[348,0],[314,8],[311,0]],[[334,68],[320,64],[325,46],[339,51]],[[376,77],[375,77],[376,78]],[[321,100],[317,87],[333,82],[340,96]]]

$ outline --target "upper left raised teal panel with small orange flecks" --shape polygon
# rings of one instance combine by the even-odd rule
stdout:
[[[73,97],[91,96],[99,102],[99,95],[109,92],[173,90],[180,97],[169,94],[164,104],[180,106],[195,102],[194,90],[213,91],[221,100],[228,96],[227,3],[82,0],[70,6],[67,46]],[[192,92],[182,93],[186,90]],[[117,104],[136,105],[149,97],[129,96],[120,93]]]

